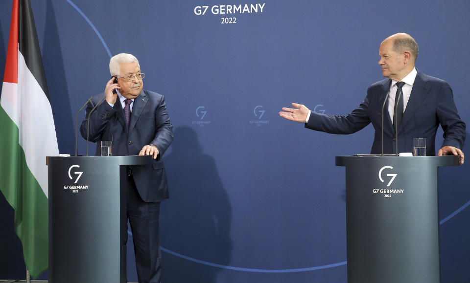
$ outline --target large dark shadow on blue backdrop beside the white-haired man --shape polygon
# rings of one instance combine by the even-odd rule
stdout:
[[[232,207],[216,164],[203,153],[197,133],[178,127],[164,156],[170,198],[163,202],[161,241],[165,249],[200,261],[228,265],[232,254]],[[163,252],[163,282],[215,283],[220,268]]]

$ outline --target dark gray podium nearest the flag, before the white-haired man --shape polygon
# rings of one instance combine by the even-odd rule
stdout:
[[[49,282],[126,283],[126,165],[150,156],[47,157]]]

